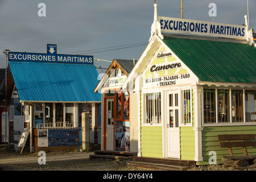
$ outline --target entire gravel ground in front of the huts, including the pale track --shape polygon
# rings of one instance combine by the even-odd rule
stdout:
[[[46,164],[39,164],[37,153],[23,154],[0,150],[0,171],[154,171],[154,169],[129,167],[127,160],[89,159],[93,152],[47,152]],[[131,160],[131,159],[129,159]],[[242,171],[222,165],[197,166],[188,171]],[[244,169],[256,171],[256,168]]]

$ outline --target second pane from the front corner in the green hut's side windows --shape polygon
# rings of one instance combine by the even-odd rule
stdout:
[[[218,122],[230,122],[229,90],[218,90]]]

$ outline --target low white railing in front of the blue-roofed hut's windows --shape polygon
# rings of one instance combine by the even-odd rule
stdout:
[[[76,129],[75,123],[56,122],[37,124],[36,129]]]

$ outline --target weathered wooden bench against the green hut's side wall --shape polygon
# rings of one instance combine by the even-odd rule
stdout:
[[[249,166],[256,165],[256,155],[248,155],[246,147],[256,147],[256,134],[225,134],[218,135],[218,140],[225,140],[220,142],[221,148],[228,148],[230,156],[223,156],[221,162],[231,166]],[[234,156],[232,147],[242,147],[244,156]]]

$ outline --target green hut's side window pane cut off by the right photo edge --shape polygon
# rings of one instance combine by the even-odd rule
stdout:
[[[245,90],[245,121],[256,122],[256,90]]]

